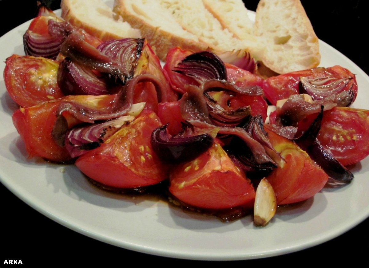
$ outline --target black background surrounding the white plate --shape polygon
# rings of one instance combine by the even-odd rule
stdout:
[[[31,19],[36,10],[35,2],[33,0],[0,0],[0,36]],[[60,2],[49,2],[52,4],[52,9],[59,8]],[[246,0],[245,2],[249,10],[256,9],[258,1]],[[369,74],[368,41],[366,40],[369,26],[367,17],[369,2],[365,0],[303,0],[301,2],[317,36],[342,52]],[[366,89],[360,88],[359,90]],[[21,259],[23,264],[33,265],[41,263],[132,265],[128,264],[128,260],[134,261],[133,264],[138,264],[142,260],[158,265],[215,264],[215,262],[205,263],[156,257],[111,246],[53,222],[20,201],[2,184],[0,184],[0,196],[0,267],[5,259]],[[347,233],[313,248],[283,256],[220,264],[316,265],[326,262],[330,265],[347,263],[368,267],[368,228],[369,219],[366,219]]]

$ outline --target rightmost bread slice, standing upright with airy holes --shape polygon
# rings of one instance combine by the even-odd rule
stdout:
[[[318,38],[299,0],[261,0],[254,34],[266,47],[263,63],[277,73],[320,63]]]

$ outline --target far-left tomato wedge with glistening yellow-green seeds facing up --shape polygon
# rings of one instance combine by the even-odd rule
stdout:
[[[31,107],[64,96],[56,75],[59,63],[33,56],[6,59],[4,81],[10,97],[22,107]]]

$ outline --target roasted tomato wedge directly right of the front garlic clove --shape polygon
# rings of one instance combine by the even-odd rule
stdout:
[[[272,185],[279,205],[306,200],[319,192],[328,180],[328,175],[314,163],[296,143],[274,133],[264,126],[274,149],[283,157],[266,149],[278,164],[267,180]]]

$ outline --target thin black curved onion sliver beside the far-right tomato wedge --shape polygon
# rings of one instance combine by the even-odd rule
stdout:
[[[297,145],[301,147],[331,178],[337,181],[350,182],[354,175],[317,140],[317,135],[320,130],[321,120],[323,118],[323,106],[317,118],[311,126],[299,138],[295,139]]]

